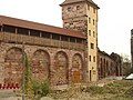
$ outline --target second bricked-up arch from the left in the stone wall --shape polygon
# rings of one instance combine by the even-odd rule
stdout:
[[[33,80],[44,81],[50,77],[50,56],[44,50],[37,50],[31,60]]]

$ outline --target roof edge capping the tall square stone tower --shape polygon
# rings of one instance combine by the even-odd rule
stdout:
[[[76,3],[76,2],[88,2],[88,3],[91,3],[93,6],[95,6],[98,9],[100,9],[98,7],[96,3],[94,3],[92,0],[65,0],[63,3],[61,3],[60,6],[65,6],[65,4],[71,4],[71,3]]]

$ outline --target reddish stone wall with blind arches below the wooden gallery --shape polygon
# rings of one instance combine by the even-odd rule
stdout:
[[[85,73],[83,51],[24,44],[32,79],[49,80],[51,84],[66,84],[73,80],[73,71],[79,71],[79,80]],[[0,78],[1,83],[21,83],[22,44],[0,43]]]

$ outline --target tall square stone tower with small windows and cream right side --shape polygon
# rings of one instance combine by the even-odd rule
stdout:
[[[98,10],[92,0],[65,0],[62,7],[63,28],[86,36],[88,80],[98,80]]]

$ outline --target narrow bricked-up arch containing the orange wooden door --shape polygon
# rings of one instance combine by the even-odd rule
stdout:
[[[80,53],[75,53],[72,58],[71,74],[72,82],[74,83],[83,80],[83,58]]]

